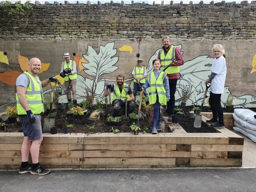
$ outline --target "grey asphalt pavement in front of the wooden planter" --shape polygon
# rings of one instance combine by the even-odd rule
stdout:
[[[255,192],[255,168],[0,171],[1,192]]]

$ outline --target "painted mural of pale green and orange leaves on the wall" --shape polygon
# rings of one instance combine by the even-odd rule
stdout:
[[[175,45],[182,51],[182,45]],[[85,97],[87,92],[94,92],[95,98],[98,98],[103,101],[103,92],[106,83],[112,81],[114,83],[116,81],[116,77],[112,75],[118,69],[118,51],[126,51],[127,54],[132,54],[132,47],[129,45],[123,45],[122,47],[115,49],[115,42],[108,42],[105,46],[101,45],[99,50],[95,50],[92,46],[88,45],[86,54],[83,54],[80,57],[77,53],[74,57],[77,65],[77,71],[80,74],[77,75],[77,102],[81,102]],[[158,51],[151,56],[146,64],[147,72],[151,73],[153,71],[152,61],[157,58]],[[183,52],[182,52],[183,54]],[[192,92],[192,96],[190,97],[187,105],[201,105],[205,85],[204,81],[208,78],[208,75],[211,73],[213,58],[209,55],[198,56],[190,61],[186,61],[183,66],[180,67],[180,79],[177,82],[177,91],[175,95],[176,105],[180,104],[180,95],[181,90],[186,88],[189,92]],[[0,62],[9,65],[8,58],[4,54],[4,52],[0,51]],[[20,64],[21,70],[24,72],[28,70],[28,58],[21,56],[18,54],[18,62]],[[47,72],[51,63],[42,63],[42,70],[40,73]],[[81,75],[84,72],[84,76]],[[252,58],[252,71],[251,73],[256,71],[256,54]],[[132,69],[131,69],[132,73]],[[250,73],[250,74],[251,74]],[[0,81],[3,83],[15,86],[16,78],[20,75],[20,71],[6,71],[4,73],[0,73]],[[104,75],[104,76],[103,76]],[[86,77],[85,77],[86,76]],[[127,75],[125,75],[127,76]],[[64,83],[64,79],[59,76],[59,73],[55,76],[61,82]],[[108,78],[106,78],[108,77]],[[130,82],[130,87],[133,89],[133,78],[125,79],[126,82]],[[52,84],[53,85],[53,84]],[[44,91],[44,94],[51,91],[51,89]],[[65,95],[65,89],[62,85],[60,85],[60,103],[67,103],[67,98]],[[147,90],[148,91],[148,90]],[[139,94],[139,92],[138,92]],[[210,95],[210,90],[207,94]],[[224,93],[221,96],[222,106],[226,105],[226,100],[230,95],[229,87],[226,86],[224,89]],[[137,97],[138,99],[139,97]],[[207,99],[205,100],[205,105],[208,105]],[[243,95],[236,97],[234,100],[234,105],[236,107],[255,107],[254,104],[256,101],[256,97],[252,95]]]

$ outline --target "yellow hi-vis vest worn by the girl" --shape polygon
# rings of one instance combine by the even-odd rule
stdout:
[[[156,95],[158,95],[159,103],[161,105],[166,105],[166,91],[164,89],[164,78],[166,75],[167,73],[161,72],[156,80],[154,72],[148,74],[149,104],[155,104]]]

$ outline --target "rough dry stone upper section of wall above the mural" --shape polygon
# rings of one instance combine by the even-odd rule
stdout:
[[[0,40],[256,41],[256,1],[31,5],[24,15],[0,12]]]

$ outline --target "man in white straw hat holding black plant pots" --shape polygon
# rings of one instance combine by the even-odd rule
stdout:
[[[63,75],[64,87],[65,87],[65,90],[66,90],[66,96],[67,96],[68,102],[70,102],[71,101],[71,91],[70,91],[70,89],[71,89],[72,90],[72,96],[73,96],[73,103],[76,106],[77,105],[77,101],[76,101],[76,78],[77,78],[76,61],[73,61],[73,60],[70,59],[69,53],[64,53],[63,57],[64,57],[65,61],[63,61],[62,64],[61,64],[60,73],[62,73],[63,70],[69,69],[69,71],[67,71],[67,73],[64,73],[65,76]]]

